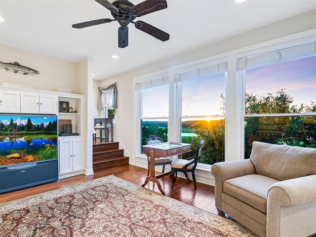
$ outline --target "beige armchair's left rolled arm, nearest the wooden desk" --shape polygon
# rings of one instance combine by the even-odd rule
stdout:
[[[250,159],[218,162],[212,165],[211,171],[215,179],[215,206],[220,210],[222,210],[224,181],[256,173],[255,167]]]

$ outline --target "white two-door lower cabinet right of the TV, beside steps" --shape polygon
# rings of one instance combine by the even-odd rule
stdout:
[[[84,138],[59,139],[59,174],[84,169]]]

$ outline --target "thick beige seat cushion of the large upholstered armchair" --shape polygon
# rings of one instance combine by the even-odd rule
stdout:
[[[260,174],[250,174],[224,182],[223,192],[267,213],[267,197],[270,186],[279,180]]]

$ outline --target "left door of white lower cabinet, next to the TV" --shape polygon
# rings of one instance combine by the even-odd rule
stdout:
[[[59,140],[59,174],[73,172],[73,140]]]

